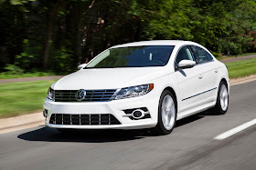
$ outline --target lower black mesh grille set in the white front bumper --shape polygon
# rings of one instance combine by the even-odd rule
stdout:
[[[49,120],[54,125],[120,125],[121,123],[111,114],[101,115],[70,115],[52,114]]]

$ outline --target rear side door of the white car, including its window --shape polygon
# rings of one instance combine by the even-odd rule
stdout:
[[[198,95],[197,100],[200,101],[199,105],[208,104],[216,100],[218,70],[212,56],[206,50],[195,45],[191,45],[191,49],[197,62],[195,67],[200,70],[198,77],[200,79],[201,91],[198,93],[200,95]]]

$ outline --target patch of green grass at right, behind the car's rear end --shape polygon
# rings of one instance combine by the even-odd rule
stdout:
[[[256,74],[256,58],[226,64],[229,78],[238,78]]]

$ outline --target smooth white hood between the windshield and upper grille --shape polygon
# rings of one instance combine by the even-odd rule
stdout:
[[[55,90],[117,89],[150,84],[164,74],[164,67],[90,68],[64,76],[51,87]]]

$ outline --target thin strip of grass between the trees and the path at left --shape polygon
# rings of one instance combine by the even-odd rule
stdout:
[[[8,72],[0,73],[0,79],[8,79],[8,78],[24,78],[24,77],[36,77],[36,76],[48,76],[48,75],[56,75],[55,73],[50,72],[33,72],[33,73],[25,73],[25,74],[10,74]]]

